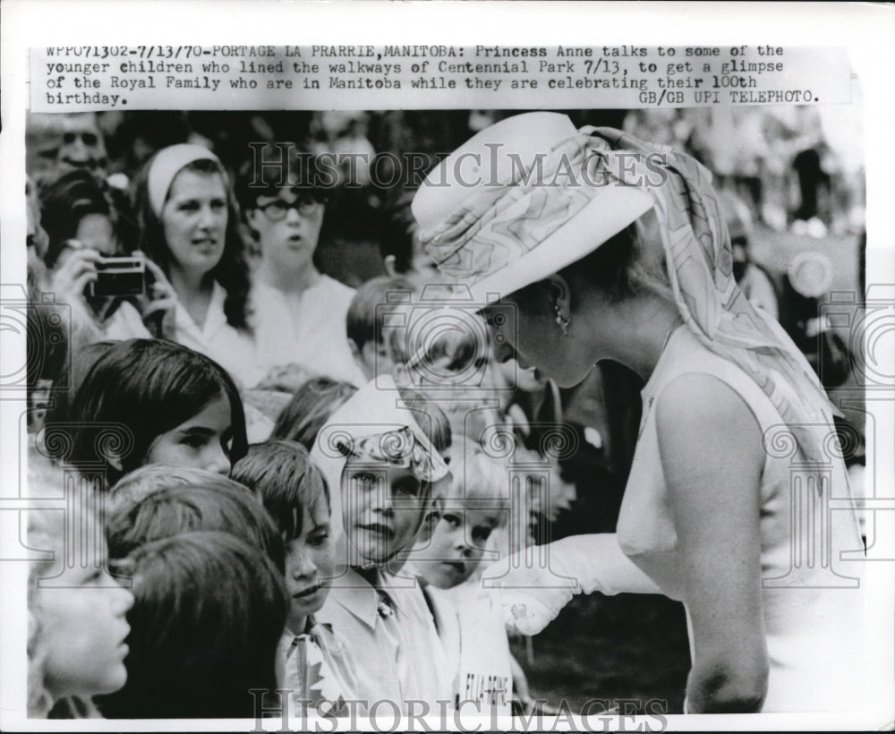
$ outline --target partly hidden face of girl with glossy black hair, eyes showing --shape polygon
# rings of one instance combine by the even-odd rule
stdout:
[[[223,395],[205,405],[188,421],[156,437],[143,464],[192,466],[207,472],[230,471],[230,401]]]

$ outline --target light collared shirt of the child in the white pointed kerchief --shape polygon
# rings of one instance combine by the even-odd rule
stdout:
[[[452,676],[422,591],[412,577],[381,571],[376,577],[379,588],[348,568],[318,617],[339,630],[354,655],[362,708],[381,700],[422,701],[438,711],[439,701],[453,700]]]

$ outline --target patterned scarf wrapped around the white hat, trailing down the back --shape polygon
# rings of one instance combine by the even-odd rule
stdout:
[[[652,197],[674,301],[687,329],[762,388],[806,458],[825,460],[823,441],[838,411],[780,324],[755,309],[737,286],[712,174],[683,152],[611,128],[583,128],[542,165],[543,174],[528,182],[476,192],[422,233],[439,269],[473,284],[536,248],[602,187],[638,187]]]

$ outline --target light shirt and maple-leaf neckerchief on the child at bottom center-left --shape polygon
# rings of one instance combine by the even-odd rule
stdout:
[[[345,701],[356,696],[356,667],[345,638],[312,616],[301,635],[286,628],[277,644],[277,682],[292,692],[293,710],[299,705],[310,713],[344,710]]]

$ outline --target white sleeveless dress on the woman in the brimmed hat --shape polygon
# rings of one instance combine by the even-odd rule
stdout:
[[[833,507],[837,499],[850,499],[845,466],[836,456],[806,465],[795,444],[780,438],[785,426],[762,389],[684,326],[669,338],[642,392],[643,419],[618,518],[618,543],[663,593],[686,608],[655,403],[672,380],[687,373],[712,375],[732,388],[765,437],[760,583],[770,675],[763,712],[854,710],[862,689],[864,551],[855,510],[831,508],[831,499]],[[692,655],[692,628],[690,633]]]

